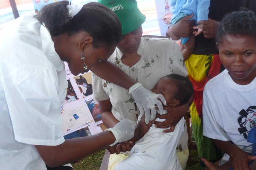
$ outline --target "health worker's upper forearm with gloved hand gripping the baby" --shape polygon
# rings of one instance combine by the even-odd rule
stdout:
[[[110,67],[112,67],[112,69],[109,69]],[[113,63],[109,61],[102,62],[93,68],[92,71],[97,76],[129,90],[129,93],[133,96],[139,111],[142,114],[145,113],[146,124],[149,120],[153,120],[155,118],[157,113],[155,105],[158,106],[160,112],[163,111],[162,103],[158,100],[161,99],[161,101],[165,103],[165,98],[162,95],[154,94],[150,90],[147,90],[142,86],[142,84],[133,80]]]

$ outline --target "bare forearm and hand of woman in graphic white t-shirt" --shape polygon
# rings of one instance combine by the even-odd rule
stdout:
[[[234,170],[249,170],[248,162],[251,160],[251,155],[246,154],[231,141],[213,139],[213,142],[220,150],[229,154]]]

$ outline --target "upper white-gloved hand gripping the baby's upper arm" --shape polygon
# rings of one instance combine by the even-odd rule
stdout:
[[[144,114],[145,112],[146,124],[148,124],[149,120],[153,120],[157,114],[155,104],[158,107],[159,113],[162,114],[163,112],[163,105],[158,99],[160,99],[163,104],[166,105],[165,98],[161,94],[155,94],[150,90],[147,90],[140,83],[134,84],[129,89],[129,94],[131,94],[133,99],[135,100],[136,106],[139,108],[140,114]]]

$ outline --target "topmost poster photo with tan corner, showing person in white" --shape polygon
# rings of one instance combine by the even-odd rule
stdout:
[[[83,98],[93,94],[91,72],[74,77]]]

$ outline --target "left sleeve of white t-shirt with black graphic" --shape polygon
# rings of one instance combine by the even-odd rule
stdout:
[[[211,87],[208,88],[206,84],[203,92],[203,135],[211,139],[231,141],[216,120],[216,116],[220,116],[222,113],[212,94]]]

